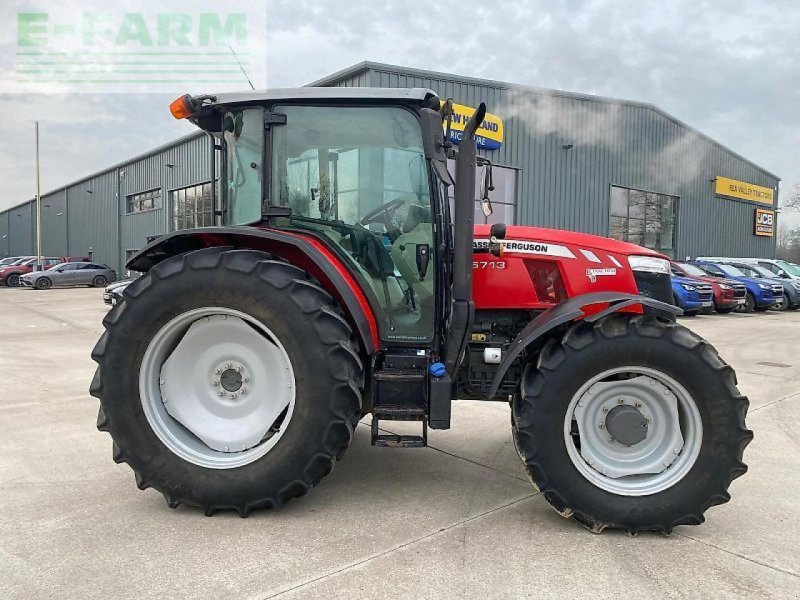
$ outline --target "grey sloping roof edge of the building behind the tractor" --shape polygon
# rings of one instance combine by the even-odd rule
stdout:
[[[361,73],[366,73],[368,71],[387,71],[389,73],[399,73],[401,75],[410,75],[412,77],[422,77],[422,78],[430,78],[430,79],[440,79],[444,81],[450,81],[454,83],[467,83],[476,86],[482,87],[493,87],[501,90],[517,90],[521,92],[528,92],[531,94],[539,94],[539,95],[547,95],[547,96],[556,96],[562,98],[574,98],[576,100],[591,100],[594,102],[602,102],[605,104],[614,104],[618,106],[635,106],[639,108],[646,108],[648,110],[652,110],[655,113],[658,113],[665,119],[668,119],[683,127],[687,131],[694,133],[695,135],[701,137],[702,139],[706,140],[707,142],[717,146],[721,150],[727,152],[731,156],[736,157],[737,159],[741,160],[742,162],[747,163],[748,165],[758,169],[759,171],[763,172],[768,177],[772,177],[778,181],[781,180],[780,177],[775,175],[774,173],[768,171],[764,167],[754,163],[750,159],[742,156],[738,152],[731,150],[724,144],[716,141],[714,138],[711,138],[704,134],[702,131],[699,131],[688,125],[687,123],[681,121],[677,117],[669,114],[668,112],[660,109],[654,104],[649,102],[639,102],[637,100],[623,100],[620,98],[611,98],[608,96],[597,96],[593,94],[582,94],[579,92],[567,92],[564,90],[558,90],[553,88],[543,88],[543,87],[536,87],[532,85],[523,85],[519,83],[509,83],[506,81],[497,81],[495,79],[480,79],[478,77],[462,77],[461,75],[454,75],[452,73],[442,73],[439,71],[427,71],[425,69],[413,69],[409,67],[401,67],[398,65],[390,65],[386,63],[378,63],[378,62],[371,62],[371,61],[363,61],[342,69],[341,71],[337,71],[331,75],[326,75],[321,79],[317,79],[316,81],[312,81],[309,83],[309,86],[330,86],[336,83],[339,83],[342,80],[348,79],[353,77],[354,75],[358,75]],[[502,115],[500,115],[502,116]]]

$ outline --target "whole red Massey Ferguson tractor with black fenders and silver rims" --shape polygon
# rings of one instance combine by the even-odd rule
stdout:
[[[140,489],[206,515],[278,508],[331,472],[365,414],[373,445],[420,447],[466,398],[510,403],[531,481],[591,531],[669,532],[728,501],[748,401],[676,324],[667,258],[475,226],[476,198],[491,212],[486,107],[457,148],[451,107],[358,88],[172,103],[214,142],[218,225],[130,259],[144,274],[92,353],[97,426]]]

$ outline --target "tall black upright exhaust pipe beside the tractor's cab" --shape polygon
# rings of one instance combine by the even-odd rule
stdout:
[[[486,116],[481,102],[464,127],[456,156],[453,240],[453,311],[445,349],[445,367],[455,375],[467,344],[475,314],[472,303],[472,243],[475,237],[475,169],[478,145],[475,132]]]

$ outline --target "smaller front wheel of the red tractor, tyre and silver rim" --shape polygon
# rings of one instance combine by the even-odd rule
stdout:
[[[527,365],[512,410],[532,481],[591,531],[670,532],[746,472],[748,401],[714,348],[676,324],[612,315]]]

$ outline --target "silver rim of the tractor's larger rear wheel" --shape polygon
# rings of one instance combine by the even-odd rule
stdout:
[[[265,456],[295,407],[292,363],[275,334],[241,311],[185,312],[150,341],[139,397],[151,429],[175,455],[233,469]]]

